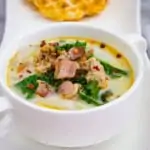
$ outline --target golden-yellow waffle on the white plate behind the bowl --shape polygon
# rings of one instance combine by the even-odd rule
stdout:
[[[45,17],[76,21],[103,11],[107,0],[28,0]]]

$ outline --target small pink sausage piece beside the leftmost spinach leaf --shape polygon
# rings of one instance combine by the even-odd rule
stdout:
[[[41,96],[41,97],[46,97],[49,93],[52,92],[52,90],[50,90],[49,85],[44,82],[44,81],[38,81],[38,88],[36,90],[36,94]]]

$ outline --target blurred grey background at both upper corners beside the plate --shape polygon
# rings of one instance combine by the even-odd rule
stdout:
[[[150,56],[150,0],[142,0],[142,32],[149,43]],[[5,0],[0,0],[0,41],[2,40],[5,25]]]

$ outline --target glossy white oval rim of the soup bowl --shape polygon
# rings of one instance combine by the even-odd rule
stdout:
[[[132,49],[132,52],[135,54],[134,57],[136,57],[136,59],[138,60],[138,74],[137,74],[137,77],[136,77],[134,83],[130,87],[130,89],[128,89],[121,97],[116,98],[115,100],[113,100],[109,103],[106,103],[106,104],[98,106],[98,107],[94,107],[94,108],[90,108],[90,109],[83,109],[83,110],[55,110],[55,109],[47,109],[47,108],[39,107],[35,104],[32,104],[32,103],[26,101],[25,98],[22,98],[19,95],[15,94],[15,92],[13,92],[6,85],[5,81],[2,78],[0,78],[0,84],[1,84],[2,90],[4,90],[4,92],[5,92],[5,95],[7,93],[15,101],[21,103],[22,105],[26,105],[27,107],[29,107],[31,109],[34,109],[36,111],[42,111],[42,112],[45,112],[45,113],[52,113],[52,114],[55,114],[55,115],[60,115],[60,114],[61,115],[70,115],[70,114],[71,115],[80,115],[80,114],[87,114],[87,113],[97,112],[97,111],[100,111],[100,110],[105,110],[105,109],[107,109],[111,106],[117,105],[117,104],[125,101],[126,99],[128,99],[128,97],[136,91],[139,84],[141,83],[141,80],[143,78],[143,71],[140,71],[140,70],[142,70],[142,68],[144,67],[144,62],[143,62],[143,59],[142,59],[139,51],[136,50],[136,48],[130,42],[127,42],[121,36],[119,36],[117,34],[114,34],[110,31],[107,31],[105,29],[102,29],[100,27],[88,25],[88,24],[85,24],[85,23],[74,23],[74,22],[67,22],[66,23],[66,22],[63,22],[63,23],[54,23],[54,24],[51,24],[51,25],[49,25],[47,27],[44,27],[42,29],[40,28],[36,31],[28,33],[24,36],[20,36],[20,38],[17,39],[16,42],[21,41],[23,38],[27,38],[29,36],[34,36],[38,33],[43,32],[43,31],[45,32],[46,30],[51,29],[53,27],[54,28],[64,28],[64,27],[66,28],[66,26],[74,26],[74,27],[82,27],[82,28],[86,27],[86,28],[89,28],[89,29],[95,29],[98,32],[103,32],[104,34],[107,34],[108,36],[115,37],[119,42],[121,42],[125,45],[128,45],[128,47],[130,47],[130,49]],[[14,44],[17,44],[17,43],[11,43],[10,45],[14,45]],[[7,49],[7,48],[8,47],[5,47],[4,49]],[[4,51],[4,53],[2,52],[0,58],[2,58],[3,54],[5,54],[5,52],[6,52],[6,50],[4,50],[4,49],[2,50],[2,51]],[[0,65],[0,67],[1,67],[1,65]]]

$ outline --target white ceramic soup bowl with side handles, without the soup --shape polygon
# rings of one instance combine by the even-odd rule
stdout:
[[[15,94],[6,83],[9,59],[19,47],[60,36],[90,38],[115,47],[132,65],[135,81],[131,88],[108,104],[80,111],[41,108]],[[142,96],[145,49],[142,37],[120,37],[103,29],[78,23],[53,24],[14,39],[2,49],[0,83],[5,97],[12,105],[17,129],[30,139],[60,147],[89,146],[120,133],[134,119]]]

